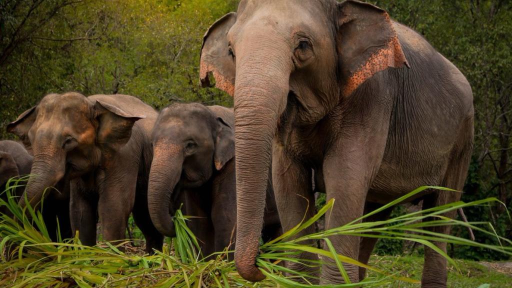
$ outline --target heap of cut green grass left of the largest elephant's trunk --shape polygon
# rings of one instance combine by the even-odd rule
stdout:
[[[40,211],[30,204],[23,211],[11,195],[21,184],[11,180],[0,199],[0,206],[18,219],[0,215],[0,250],[5,251],[0,263],[2,287],[273,286],[269,281],[253,285],[241,279],[225,253],[203,259],[186,227],[187,217],[180,212],[174,217],[177,237],[151,256],[133,251],[126,241],[94,247],[81,245],[78,237],[52,242]]]

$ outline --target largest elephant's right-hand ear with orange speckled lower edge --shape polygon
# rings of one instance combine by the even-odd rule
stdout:
[[[354,0],[337,4],[338,67],[343,95],[388,67],[409,67],[390,16],[374,5]]]

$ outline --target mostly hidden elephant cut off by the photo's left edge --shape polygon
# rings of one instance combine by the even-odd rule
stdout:
[[[29,175],[32,160],[32,155],[27,152],[22,144],[10,140],[0,141],[0,192],[5,191],[9,179]],[[47,192],[49,201],[45,202],[45,208],[42,211],[46,228],[53,241],[58,239],[57,218],[60,236],[64,239],[70,238],[72,235],[69,222],[69,185],[59,182],[55,188],[56,190],[52,189]],[[21,197],[24,190],[25,186],[16,188],[13,196]],[[7,200],[7,195],[3,194],[2,198]],[[12,213],[6,207],[0,208],[0,213],[12,216]]]

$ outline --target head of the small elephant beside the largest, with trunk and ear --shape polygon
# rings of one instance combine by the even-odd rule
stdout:
[[[200,104],[167,107],[153,129],[147,202],[160,233],[175,236],[172,213],[178,187],[197,188],[234,157],[233,113]]]

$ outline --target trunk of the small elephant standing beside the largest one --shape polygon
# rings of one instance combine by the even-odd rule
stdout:
[[[165,152],[164,152],[165,151]],[[183,163],[180,153],[168,154],[167,150],[155,146],[150,180],[147,189],[147,204],[157,230],[165,236],[175,237],[171,213],[173,191],[181,177]]]

